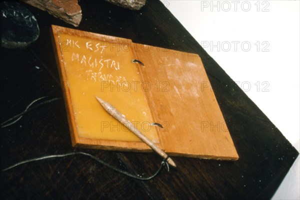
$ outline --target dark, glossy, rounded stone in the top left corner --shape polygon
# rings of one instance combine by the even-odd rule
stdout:
[[[39,28],[36,19],[16,2],[1,2],[1,47],[23,49],[37,40]]]

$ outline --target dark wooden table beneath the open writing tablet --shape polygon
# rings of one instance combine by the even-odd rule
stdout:
[[[298,152],[241,89],[223,87],[224,83],[232,86],[234,82],[163,4],[148,0],[140,11],[104,1],[79,4],[83,18],[78,30],[198,54],[239,160],[174,157],[177,169],[163,170],[149,181],[119,174],[80,155],[43,160],[1,172],[1,199],[270,198]],[[25,50],[1,49],[1,122],[22,112],[36,98],[62,97],[49,27],[73,27],[24,6],[36,17],[40,36]],[[1,169],[32,157],[79,150],[142,175],[155,171],[161,160],[154,153],[72,148],[62,100],[26,113],[15,124],[1,128],[0,135]]]

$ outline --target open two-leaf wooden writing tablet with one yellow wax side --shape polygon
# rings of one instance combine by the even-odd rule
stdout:
[[[52,32],[73,146],[151,151],[99,96],[168,155],[238,159],[198,55],[58,26]]]

